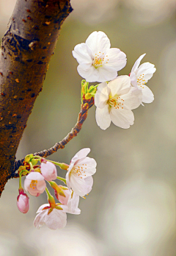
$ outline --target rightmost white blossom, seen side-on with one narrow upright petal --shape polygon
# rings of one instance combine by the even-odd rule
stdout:
[[[131,85],[142,91],[142,102],[151,103],[154,100],[154,95],[150,88],[145,84],[151,77],[153,77],[153,73],[155,73],[156,69],[155,65],[151,63],[143,63],[142,65],[139,65],[144,56],[145,54],[142,54],[131,69]]]

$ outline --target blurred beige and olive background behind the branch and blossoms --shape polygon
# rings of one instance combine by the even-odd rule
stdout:
[[[119,74],[129,74],[136,59],[155,64],[147,86],[152,104],[133,110],[130,129],[111,124],[106,131],[89,110],[81,132],[50,159],[70,163],[89,147],[98,163],[80,216],[67,214],[64,230],[33,227],[45,193],[30,196],[29,213],[16,207],[18,179],[10,180],[0,199],[0,255],[175,256],[176,143],[176,0],[73,0],[73,13],[60,32],[55,54],[17,152],[48,149],[70,132],[80,110],[81,77],[72,50],[101,30],[111,47],[127,54]],[[15,0],[0,1],[0,35],[4,35]],[[60,176],[65,171],[60,171]]]

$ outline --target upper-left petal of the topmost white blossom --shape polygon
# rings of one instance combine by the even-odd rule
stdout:
[[[89,47],[87,47],[86,43],[79,43],[77,46],[75,46],[72,54],[79,64],[87,63],[92,65],[92,52],[90,51]]]

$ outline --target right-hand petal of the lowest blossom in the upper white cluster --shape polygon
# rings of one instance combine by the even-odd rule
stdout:
[[[139,107],[142,104],[142,91],[139,88],[130,87],[125,90],[120,90],[118,94],[122,103],[120,104],[121,107],[125,110],[133,110],[136,107]]]

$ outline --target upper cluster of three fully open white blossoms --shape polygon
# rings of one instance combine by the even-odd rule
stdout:
[[[126,65],[126,55],[117,48],[110,48],[110,40],[104,32],[92,32],[86,43],[79,43],[73,50],[78,61],[78,74],[88,82],[101,82],[86,91],[86,99],[95,96],[96,121],[101,129],[107,129],[111,121],[121,128],[129,128],[134,121],[131,110],[143,103],[153,102],[154,96],[145,85],[153,77],[155,66],[140,62],[145,54],[134,63],[129,76],[117,77]],[[84,88],[83,88],[84,93]]]

